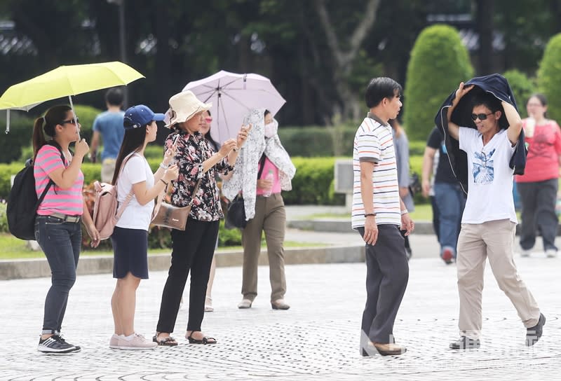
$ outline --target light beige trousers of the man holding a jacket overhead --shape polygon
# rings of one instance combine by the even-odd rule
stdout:
[[[526,328],[539,320],[539,307],[518,276],[513,260],[516,225],[508,219],[484,223],[462,223],[458,238],[458,291],[460,335],[478,339],[482,327],[481,295],[485,259],[501,289],[513,303]]]

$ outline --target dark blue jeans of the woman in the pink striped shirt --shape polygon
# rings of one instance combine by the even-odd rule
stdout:
[[[53,216],[37,216],[35,240],[47,257],[51,286],[45,300],[43,334],[58,333],[65,317],[68,293],[76,281],[82,230],[80,223]]]

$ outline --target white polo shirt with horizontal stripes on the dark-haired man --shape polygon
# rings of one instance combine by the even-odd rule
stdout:
[[[360,193],[360,162],[374,162],[372,201],[377,225],[401,225],[398,168],[391,126],[365,118],[355,135],[353,148],[353,229],[365,226]]]

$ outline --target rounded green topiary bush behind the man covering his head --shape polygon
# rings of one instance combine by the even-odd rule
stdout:
[[[410,140],[426,140],[438,108],[473,76],[468,51],[449,25],[425,28],[411,50],[405,83],[404,125]]]

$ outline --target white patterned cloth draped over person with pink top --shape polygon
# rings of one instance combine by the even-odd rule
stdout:
[[[240,191],[243,193],[245,219],[247,220],[255,216],[257,167],[263,153],[278,168],[280,189],[283,191],[290,191],[292,189],[292,182],[290,180],[296,173],[296,167],[292,164],[283,144],[280,144],[278,134],[265,139],[264,111],[264,109],[253,109],[248,116],[245,116],[243,124],[248,125],[251,123],[252,129],[248,140],[245,141],[240,150],[234,165],[234,174],[231,179],[224,180],[224,183],[222,183],[222,194],[229,200],[233,200]]]

